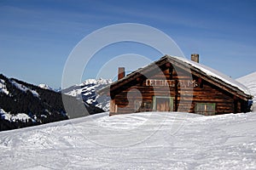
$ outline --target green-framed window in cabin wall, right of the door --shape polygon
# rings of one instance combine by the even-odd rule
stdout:
[[[195,113],[201,115],[215,115],[215,103],[196,103]]]

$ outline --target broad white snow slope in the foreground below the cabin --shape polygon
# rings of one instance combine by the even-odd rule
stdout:
[[[256,113],[87,116],[0,133],[0,169],[255,169]]]

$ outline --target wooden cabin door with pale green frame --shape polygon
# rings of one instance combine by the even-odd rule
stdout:
[[[154,96],[153,111],[173,111],[172,97]]]

